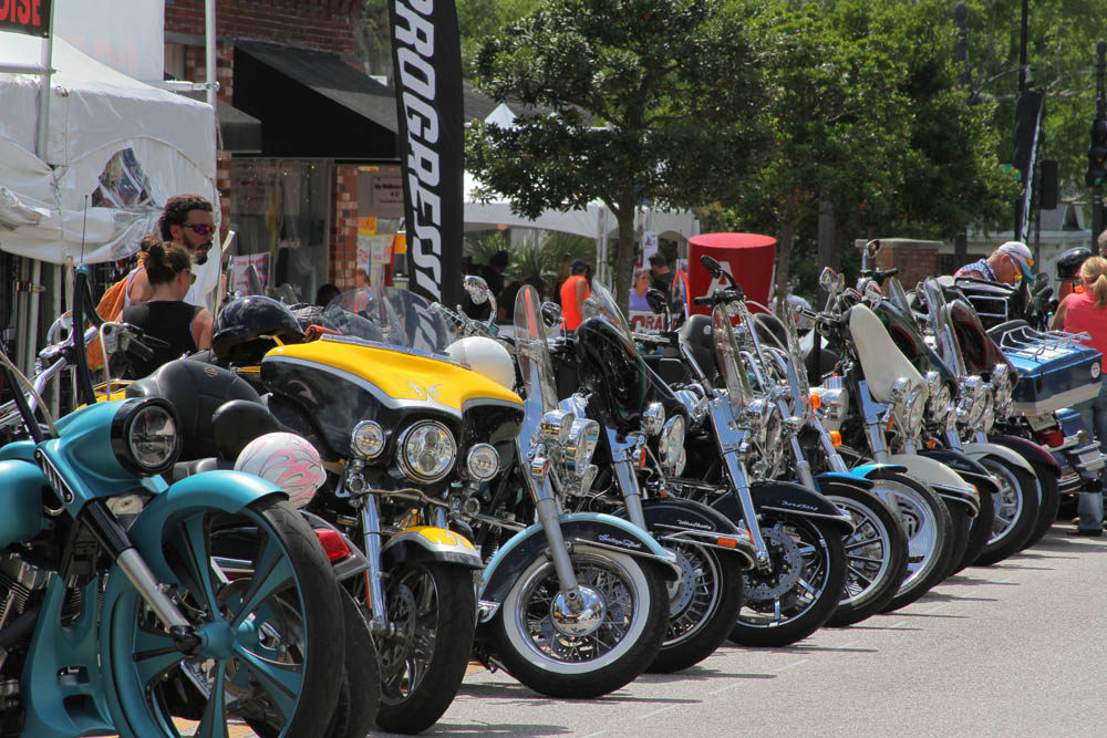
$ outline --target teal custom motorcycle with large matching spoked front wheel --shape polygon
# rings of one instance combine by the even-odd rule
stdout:
[[[83,358],[83,339],[54,350]],[[172,403],[55,420],[2,351],[0,367],[28,436],[0,447],[0,736],[317,735],[339,697],[342,603],[287,495],[236,471],[167,485]]]

